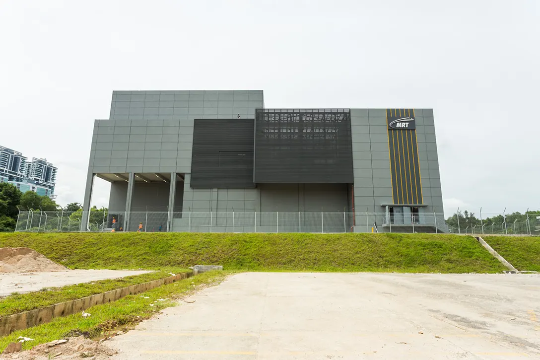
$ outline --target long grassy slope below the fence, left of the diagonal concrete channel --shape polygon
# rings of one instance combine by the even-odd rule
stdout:
[[[51,246],[51,244],[55,244]],[[219,264],[251,271],[500,272],[475,238],[435,234],[98,233],[0,234],[82,269],[187,268]]]

